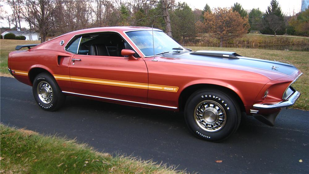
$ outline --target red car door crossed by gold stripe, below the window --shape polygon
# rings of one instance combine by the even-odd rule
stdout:
[[[75,54],[70,80],[74,93],[147,103],[148,71],[141,58]]]

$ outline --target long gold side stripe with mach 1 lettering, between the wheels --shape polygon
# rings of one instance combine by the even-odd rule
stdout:
[[[120,87],[133,87],[140,89],[150,89],[150,90],[169,91],[169,92],[178,91],[178,87],[162,86],[154,84],[148,85],[146,83],[134,83],[134,82],[125,82],[116,80],[106,80],[106,79],[91,79],[86,77],[76,77],[76,76],[57,75],[57,74],[55,74],[54,77],[57,80],[71,80],[73,82],[93,83],[93,84],[102,84],[102,85],[120,86]]]

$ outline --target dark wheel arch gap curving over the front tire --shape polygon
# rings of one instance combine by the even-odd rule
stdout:
[[[239,103],[239,107],[241,111],[242,112],[245,111],[243,100],[234,90],[232,90],[229,87],[224,87],[221,85],[211,84],[211,83],[197,83],[197,84],[192,84],[190,86],[185,87],[179,95],[179,99],[178,99],[179,110],[184,111],[186,101],[188,100],[190,95],[192,95],[195,91],[201,90],[201,89],[214,89],[214,90],[223,91],[224,93],[230,94],[231,97],[233,97],[236,100],[236,102]]]

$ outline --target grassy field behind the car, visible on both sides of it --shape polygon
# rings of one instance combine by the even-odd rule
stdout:
[[[266,36],[269,37],[269,36]],[[7,57],[11,51],[14,51],[16,45],[39,43],[40,41],[27,40],[0,40],[0,57],[1,57],[1,75],[11,76],[7,71]],[[218,50],[234,51],[242,56],[254,57],[266,60],[288,61],[300,69],[304,74],[293,85],[302,95],[292,106],[309,110],[309,52],[305,51],[280,51],[265,49],[240,49],[240,48],[218,48],[218,47],[188,47],[193,50]]]

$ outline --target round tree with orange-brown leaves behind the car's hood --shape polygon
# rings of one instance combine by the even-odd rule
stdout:
[[[249,29],[247,17],[241,17],[237,11],[227,8],[216,8],[212,13],[204,13],[204,28],[211,37],[220,40],[220,47],[223,42],[246,34]]]

